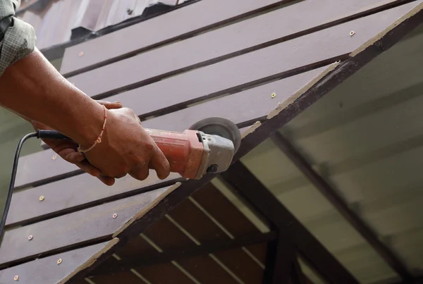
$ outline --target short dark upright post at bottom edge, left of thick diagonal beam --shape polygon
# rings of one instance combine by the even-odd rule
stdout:
[[[294,258],[293,244],[287,240],[285,233],[278,232],[276,240],[269,242],[267,246],[263,283],[289,283]]]

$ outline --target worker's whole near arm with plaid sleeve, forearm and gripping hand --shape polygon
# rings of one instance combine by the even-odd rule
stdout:
[[[102,131],[103,106],[63,78],[34,47],[32,27],[11,16],[11,8],[16,8],[12,2],[0,1],[0,105],[90,148]],[[170,171],[164,154],[126,108],[107,111],[102,142],[85,156],[102,175],[111,177],[129,173],[143,180],[149,165],[159,178]]]

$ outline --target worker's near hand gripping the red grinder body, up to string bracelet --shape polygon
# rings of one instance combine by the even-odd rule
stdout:
[[[137,180],[145,180],[149,168],[156,170],[161,179],[170,173],[166,157],[142,128],[140,118],[128,108],[107,111],[102,142],[85,156],[102,175],[109,177],[121,178],[129,174]]]

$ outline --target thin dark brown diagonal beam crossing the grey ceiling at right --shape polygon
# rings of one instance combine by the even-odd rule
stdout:
[[[400,259],[389,249],[383,242],[379,240],[376,233],[367,226],[362,219],[355,214],[353,210],[348,208],[346,202],[342,199],[338,192],[329,185],[318,173],[316,173],[312,166],[302,157],[294,147],[286,140],[281,133],[276,132],[271,136],[271,140],[276,146],[281,149],[283,154],[286,154],[290,161],[308,178],[322,195],[324,195],[329,202],[341,213],[345,219],[357,230],[362,237],[379,253],[379,255],[386,261],[386,263],[393,268],[403,280],[411,280],[412,275],[407,270],[407,267],[400,261]]]

